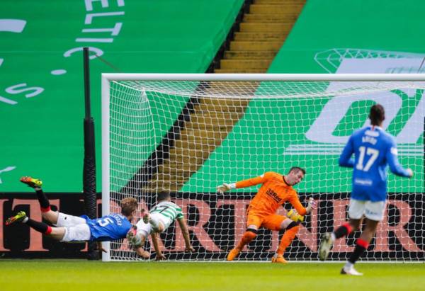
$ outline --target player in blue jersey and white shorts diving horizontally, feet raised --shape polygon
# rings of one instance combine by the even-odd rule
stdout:
[[[115,213],[101,218],[89,219],[86,215],[78,217],[51,210],[50,202],[41,189],[42,181],[31,177],[23,177],[20,181],[35,189],[38,201],[40,202],[42,218],[50,222],[54,227],[50,227],[44,222],[37,222],[30,219],[26,215],[26,212],[23,211],[8,218],[6,225],[23,222],[36,231],[50,236],[57,241],[97,241],[98,249],[101,251],[105,251],[101,246],[101,241],[123,239],[132,226],[132,217],[138,205],[135,198],[124,198],[121,200],[120,214]]]

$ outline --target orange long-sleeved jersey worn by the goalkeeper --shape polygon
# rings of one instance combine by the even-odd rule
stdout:
[[[272,215],[278,210],[279,205],[289,201],[300,215],[305,215],[305,207],[298,199],[297,192],[289,186],[283,176],[275,172],[266,172],[256,178],[239,181],[236,188],[245,188],[262,183],[260,190],[256,193],[251,203],[249,211],[259,212],[263,215]]]

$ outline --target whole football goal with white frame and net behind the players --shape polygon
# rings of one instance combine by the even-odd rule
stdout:
[[[216,186],[300,166],[300,200],[313,197],[318,207],[284,256],[317,261],[320,235],[346,220],[352,170],[338,166],[339,154],[380,103],[383,127],[414,177],[389,173],[385,219],[361,260],[424,261],[424,92],[424,74],[103,74],[103,215],[119,212],[122,198],[150,209],[157,193],[169,192],[197,251],[184,252],[173,224],[161,235],[167,258],[225,260],[259,187],[220,195]],[[261,229],[237,260],[270,260],[281,236]],[[329,260],[346,260],[357,237],[337,241]],[[105,245],[103,261],[138,259],[125,240]]]

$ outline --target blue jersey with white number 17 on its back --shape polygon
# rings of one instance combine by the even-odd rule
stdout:
[[[339,157],[339,166],[353,168],[351,198],[356,200],[386,199],[388,165],[395,175],[409,177],[409,172],[399,165],[394,137],[376,126],[356,130]]]

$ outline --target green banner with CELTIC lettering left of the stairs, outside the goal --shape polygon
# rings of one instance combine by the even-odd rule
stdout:
[[[241,5],[242,0],[2,1],[0,192],[28,190],[18,183],[26,175],[44,179],[47,191],[82,189],[81,47],[91,48],[101,190],[101,73],[205,72]]]

